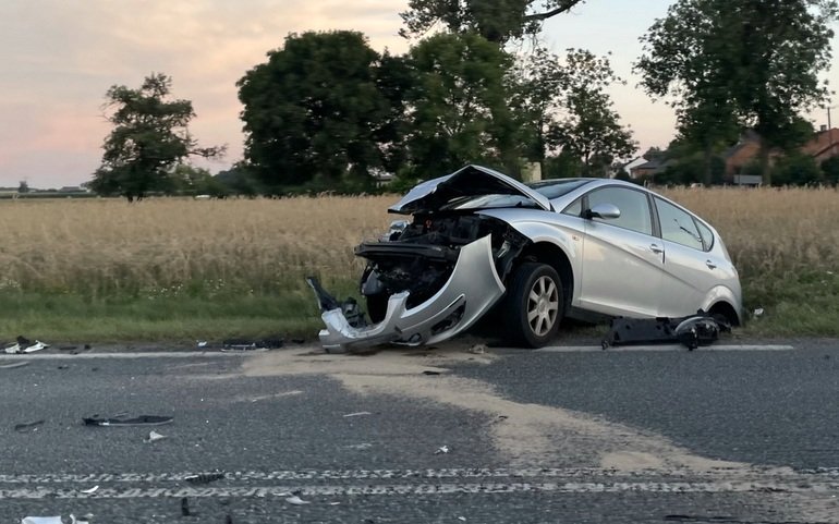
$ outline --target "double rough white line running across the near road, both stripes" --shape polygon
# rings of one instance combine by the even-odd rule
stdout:
[[[0,475],[4,499],[136,499],[179,497],[272,497],[294,491],[304,497],[357,495],[449,493],[720,493],[720,492],[839,492],[839,468],[819,468],[807,475],[773,474],[770,471],[718,470],[705,474],[686,471],[648,472],[664,482],[625,482],[625,475],[603,468],[448,468],[448,470],[304,470],[233,472],[214,486],[183,485],[193,473],[44,474]],[[557,478],[559,482],[544,482]],[[806,478],[806,482],[802,479]],[[508,482],[499,482],[508,479]],[[528,480],[535,482],[528,482]],[[598,482],[592,482],[592,480]],[[319,484],[350,480],[348,484]],[[358,480],[365,480],[358,484]],[[457,482],[464,480],[464,482]],[[479,482],[476,482],[479,480]],[[277,482],[277,485],[265,485]],[[227,484],[239,484],[229,486]],[[258,485],[253,485],[258,483]],[[90,492],[89,486],[102,485]],[[113,485],[130,484],[121,487]],[[133,486],[131,485],[133,484]],[[174,484],[174,486],[173,486]],[[244,485],[242,485],[244,484]],[[53,486],[50,486],[53,485]],[[76,485],[76,486],[72,486]],[[111,485],[111,486],[108,486]]]

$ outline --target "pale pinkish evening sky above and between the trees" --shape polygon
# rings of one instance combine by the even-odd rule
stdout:
[[[190,131],[199,145],[227,144],[215,173],[241,160],[235,83],[282,47],[290,33],[354,29],[373,48],[404,52],[398,36],[406,0],[0,0],[0,186],[78,185],[101,162],[111,130],[102,103],[112,85],[139,87],[150,73],[172,77],[175,98],[192,100]],[[611,90],[639,154],[666,147],[674,118],[637,87],[639,37],[671,0],[588,0],[545,24],[552,50],[611,52],[627,85]],[[837,49],[839,37],[834,39]],[[839,66],[825,74],[839,85]],[[818,126],[827,117],[812,114]],[[839,121],[839,109],[835,111]],[[835,124],[836,126],[836,124]]]

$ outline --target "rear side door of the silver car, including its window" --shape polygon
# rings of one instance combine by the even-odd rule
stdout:
[[[662,198],[654,197],[653,200],[666,253],[659,315],[693,315],[717,284],[719,278],[715,270],[724,263],[715,263],[706,252],[710,249],[710,243],[703,241],[691,214]],[[705,234],[709,235],[710,231]]]

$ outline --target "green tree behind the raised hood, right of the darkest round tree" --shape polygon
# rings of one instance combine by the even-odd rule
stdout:
[[[413,174],[439,175],[477,161],[518,172],[523,153],[508,105],[511,57],[474,34],[438,34],[410,51],[416,80],[408,93]]]

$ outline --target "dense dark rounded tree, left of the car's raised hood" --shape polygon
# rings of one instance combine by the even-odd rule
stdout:
[[[382,147],[394,139],[388,126],[399,98],[398,86],[380,85],[380,60],[397,69],[361,33],[289,35],[236,84],[245,160],[275,188],[335,187],[348,175],[372,184],[369,169],[382,164]]]

